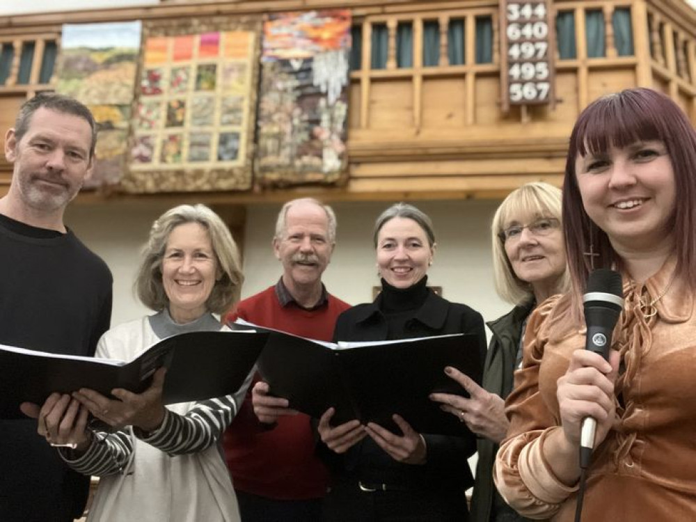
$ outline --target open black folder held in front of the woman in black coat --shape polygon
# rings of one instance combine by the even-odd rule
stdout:
[[[271,394],[291,408],[319,418],[334,406],[334,426],[358,419],[399,434],[392,420],[398,413],[419,433],[461,435],[461,423],[428,396],[467,396],[444,370],[456,367],[480,383],[478,346],[470,334],[335,345],[270,331],[258,368]]]

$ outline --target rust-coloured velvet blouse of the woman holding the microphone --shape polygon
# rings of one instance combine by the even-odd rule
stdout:
[[[667,260],[640,287],[624,284],[624,313],[613,337],[625,365],[615,388],[623,406],[587,471],[585,521],[696,521],[696,317],[693,293],[672,282],[674,264]],[[644,317],[645,303],[665,289],[656,315]],[[557,480],[542,448],[549,433],[562,429],[556,381],[571,353],[584,348],[585,328],[558,341],[550,336],[558,299],[530,317],[494,478],[521,514],[565,522],[574,519],[577,486]]]

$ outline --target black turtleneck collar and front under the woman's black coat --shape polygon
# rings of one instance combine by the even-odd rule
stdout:
[[[404,338],[406,323],[416,315],[425,303],[428,292],[428,276],[408,288],[393,287],[382,279],[382,291],[379,294],[379,310],[387,322],[387,340]]]

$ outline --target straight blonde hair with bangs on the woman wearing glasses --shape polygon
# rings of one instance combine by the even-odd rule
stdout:
[[[520,219],[540,217],[561,220],[561,191],[545,182],[532,182],[522,185],[507,195],[500,203],[491,223],[491,242],[493,244],[493,284],[501,299],[512,304],[519,304],[532,299],[532,286],[521,280],[512,270],[510,260],[505,252],[505,244],[500,239],[500,232],[511,222]],[[570,289],[567,270],[558,280],[556,294]]]

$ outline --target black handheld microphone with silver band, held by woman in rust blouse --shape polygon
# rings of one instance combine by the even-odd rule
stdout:
[[[624,309],[621,274],[610,269],[598,269],[587,279],[587,293],[583,296],[587,338],[585,349],[609,358],[614,326]],[[580,467],[587,468],[594,449],[594,433],[597,421],[583,419],[580,429]]]

